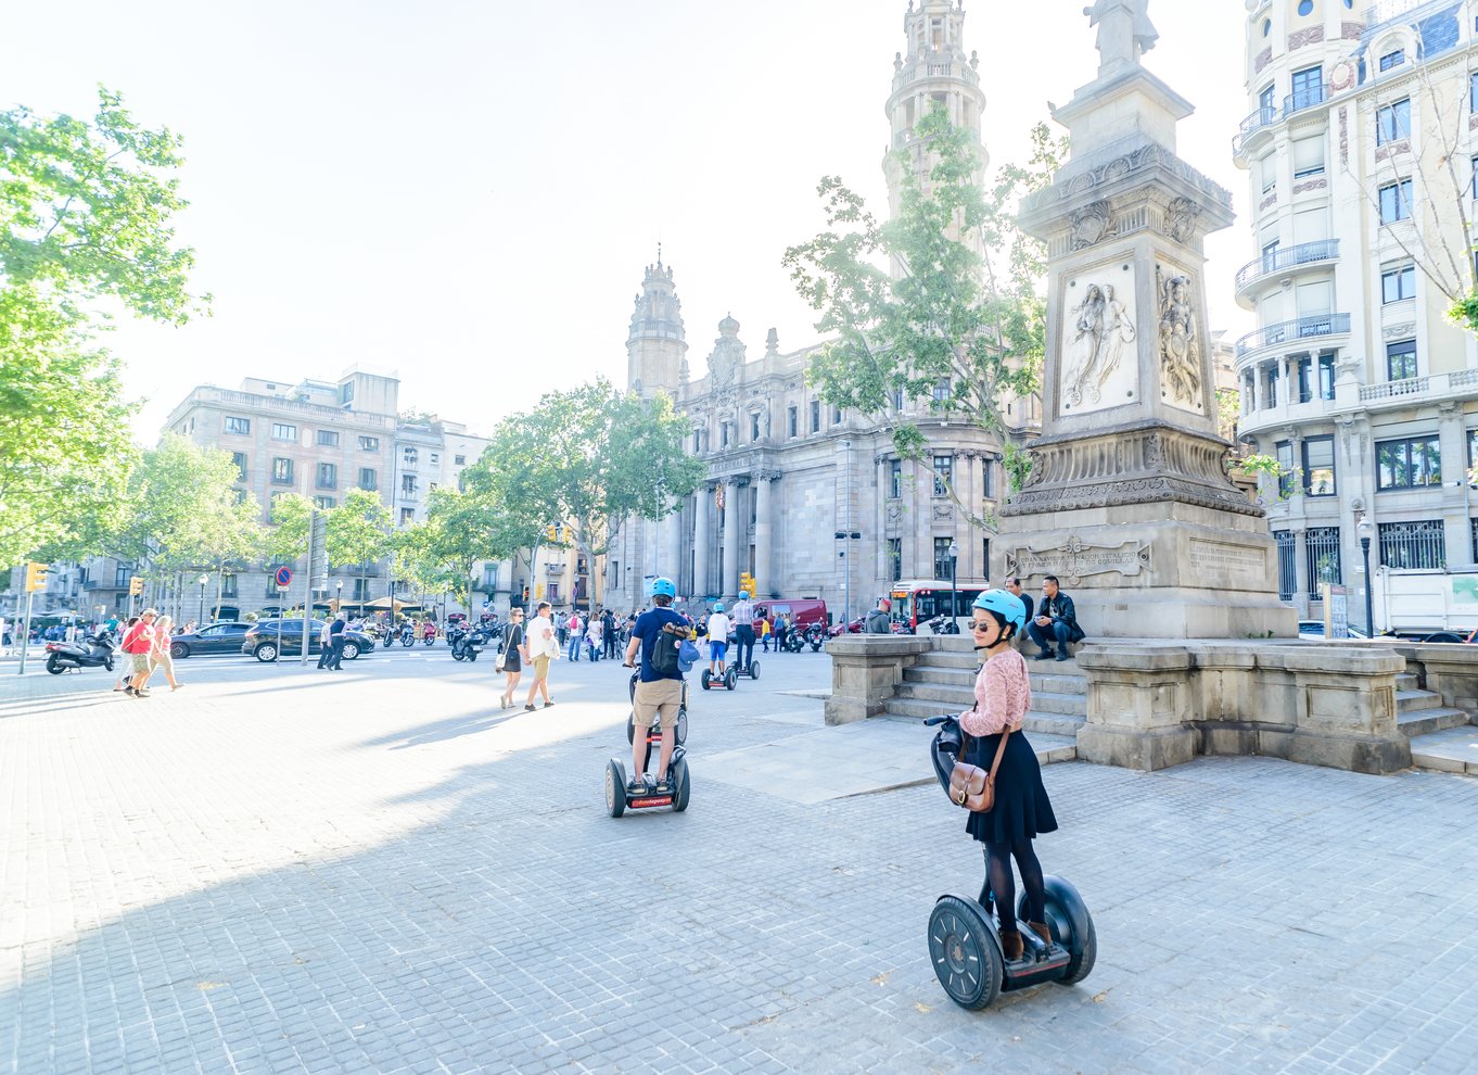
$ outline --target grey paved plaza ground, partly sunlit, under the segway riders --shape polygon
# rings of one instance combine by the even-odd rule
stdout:
[[[1098,966],[968,1013],[924,933],[981,862],[928,733],[823,728],[825,655],[763,671],[695,683],[689,810],[613,821],[615,662],[532,714],[443,646],[145,701],[0,665],[0,1071],[1478,1066],[1474,778],[1049,766]]]

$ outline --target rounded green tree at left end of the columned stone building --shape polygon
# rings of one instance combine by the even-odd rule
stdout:
[[[686,433],[668,396],[643,401],[600,377],[505,418],[463,478],[539,532],[553,523],[573,531],[596,608],[596,557],[606,555],[621,520],[667,518],[702,479],[704,464],[684,454]]]

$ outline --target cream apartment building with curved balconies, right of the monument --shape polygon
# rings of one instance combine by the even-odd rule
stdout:
[[[1243,444],[1283,599],[1478,559],[1468,470],[1478,346],[1445,311],[1472,279],[1478,33],[1469,0],[1247,0],[1252,260],[1237,302]],[[1379,591],[1377,580],[1377,591]]]

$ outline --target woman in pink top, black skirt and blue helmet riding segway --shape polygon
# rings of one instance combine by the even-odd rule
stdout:
[[[975,707],[959,714],[959,726],[968,736],[961,748],[962,760],[990,769],[1002,736],[1005,747],[996,770],[995,806],[971,813],[965,831],[986,846],[986,875],[1001,914],[1001,948],[1008,960],[1020,960],[1024,946],[1015,927],[1011,859],[1021,871],[1027,926],[1052,943],[1046,927],[1042,864],[1032,841],[1039,832],[1057,831],[1057,816],[1042,785],[1036,751],[1021,730],[1021,722],[1032,708],[1032,682],[1026,659],[1011,648],[1011,637],[1026,624],[1026,605],[1005,590],[986,590],[975,599],[973,614],[975,649],[984,652],[986,662],[975,676]]]

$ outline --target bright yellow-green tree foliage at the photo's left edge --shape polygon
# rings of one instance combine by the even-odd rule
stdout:
[[[0,563],[126,525],[133,407],[95,333],[120,306],[183,324],[208,303],[170,226],[179,145],[108,90],[90,121],[0,112]]]

